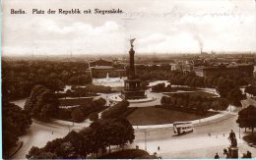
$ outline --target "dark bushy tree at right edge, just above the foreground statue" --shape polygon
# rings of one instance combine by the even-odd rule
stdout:
[[[236,123],[239,125],[239,128],[250,128],[252,133],[256,127],[256,107],[248,106],[238,112],[238,119]]]

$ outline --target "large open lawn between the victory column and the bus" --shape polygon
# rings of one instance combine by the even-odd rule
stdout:
[[[128,109],[129,110],[129,109]],[[208,112],[205,116],[193,113],[185,113],[180,111],[167,110],[156,107],[136,108],[126,119],[134,126],[141,125],[162,125],[172,124],[176,121],[193,121],[216,115],[215,112]]]

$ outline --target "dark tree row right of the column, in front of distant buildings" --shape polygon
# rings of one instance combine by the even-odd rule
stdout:
[[[161,74],[156,74],[156,77]],[[151,73],[145,73],[151,77]],[[171,71],[165,72],[163,77],[160,80],[169,80],[171,85],[187,85],[190,87],[216,87],[217,91],[223,98],[227,98],[229,103],[239,106],[240,100],[245,98],[245,95],[242,94],[242,91],[239,89],[239,86],[247,84],[243,78],[233,78],[233,77],[220,77],[220,78],[202,78],[192,72],[180,72],[180,71]],[[164,83],[157,84],[152,87],[153,91],[173,91],[170,85],[165,86]],[[250,86],[246,89],[250,93],[253,92],[253,87]]]

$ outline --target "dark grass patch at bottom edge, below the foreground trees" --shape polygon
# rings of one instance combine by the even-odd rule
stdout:
[[[127,149],[103,155],[98,159],[152,159],[153,157],[145,150]]]

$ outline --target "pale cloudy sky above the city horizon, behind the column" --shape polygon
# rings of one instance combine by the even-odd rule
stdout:
[[[255,7],[255,0],[2,0],[2,53],[125,54],[130,38],[139,54],[255,52]],[[96,8],[123,13],[94,14]],[[46,14],[49,9],[57,13]],[[63,15],[58,9],[93,13]]]

